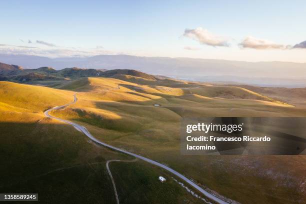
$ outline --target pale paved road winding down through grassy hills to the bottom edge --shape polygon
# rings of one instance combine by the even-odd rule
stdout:
[[[176,175],[177,177],[179,177],[180,179],[184,180],[184,181],[187,182],[189,185],[191,185],[192,187],[194,187],[195,189],[197,189],[198,191],[200,191],[203,195],[205,195],[206,197],[212,199],[213,201],[215,201],[215,202],[217,202],[217,203],[219,203],[219,204],[228,204],[228,203],[229,203],[229,202],[226,202],[226,201],[224,201],[224,200],[218,198],[217,196],[213,195],[212,193],[210,193],[210,192],[204,190],[202,187],[200,187],[199,185],[197,185],[196,183],[194,183],[192,180],[186,178],[184,175],[180,174],[180,173],[177,172],[176,170],[174,170],[174,169],[172,169],[172,168],[170,168],[170,167],[168,167],[168,166],[166,166],[166,165],[164,165],[164,164],[162,164],[162,163],[159,163],[159,162],[154,161],[154,160],[152,160],[152,159],[149,159],[149,158],[140,156],[140,155],[138,155],[138,154],[135,154],[135,153],[126,151],[126,150],[124,150],[124,149],[120,149],[120,148],[115,147],[115,146],[112,146],[112,145],[110,145],[110,144],[106,144],[106,143],[104,143],[104,142],[102,142],[102,141],[96,139],[94,136],[92,136],[92,135],[90,134],[90,132],[89,132],[84,126],[81,126],[81,125],[76,124],[76,123],[74,123],[74,122],[71,122],[71,121],[69,121],[69,120],[65,120],[65,119],[61,119],[61,118],[58,118],[58,117],[54,117],[54,116],[52,116],[52,115],[49,114],[49,111],[51,111],[51,110],[60,109],[60,108],[63,108],[63,107],[66,107],[66,106],[68,106],[68,105],[70,105],[70,104],[75,103],[76,100],[77,100],[77,98],[76,98],[76,93],[74,93],[73,96],[74,96],[74,99],[73,99],[72,102],[69,102],[69,103],[64,104],[64,105],[55,106],[55,107],[53,107],[53,108],[50,108],[50,109],[44,111],[44,115],[47,116],[47,117],[50,117],[50,118],[53,118],[53,119],[56,119],[56,120],[59,120],[59,121],[62,121],[62,122],[71,124],[71,125],[74,126],[76,129],[78,129],[78,130],[80,130],[81,132],[83,132],[83,133],[84,133],[87,137],[89,137],[92,141],[94,141],[94,142],[96,142],[96,143],[98,143],[98,144],[101,144],[101,145],[103,145],[103,146],[106,146],[106,147],[108,147],[108,148],[111,148],[111,149],[113,149],[113,150],[116,150],[116,151],[119,151],[119,152],[122,152],[122,153],[125,153],[125,154],[128,154],[128,155],[134,156],[134,157],[136,157],[136,158],[139,158],[139,159],[141,159],[141,160],[144,160],[144,161],[146,161],[146,162],[148,162],[148,163],[151,163],[151,164],[153,164],[153,165],[159,166],[159,167],[161,167],[161,168],[163,168],[163,169],[165,169],[165,170],[167,170],[167,171],[173,173],[174,175]]]

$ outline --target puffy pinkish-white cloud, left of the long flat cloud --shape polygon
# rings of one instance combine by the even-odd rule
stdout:
[[[228,38],[223,36],[215,35],[202,27],[197,27],[195,29],[185,29],[185,37],[189,37],[201,44],[206,44],[210,46],[228,46]]]

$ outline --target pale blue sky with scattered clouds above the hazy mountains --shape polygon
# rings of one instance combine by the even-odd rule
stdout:
[[[306,48],[292,48],[306,40],[304,0],[10,0],[0,6],[1,53],[306,62]]]

